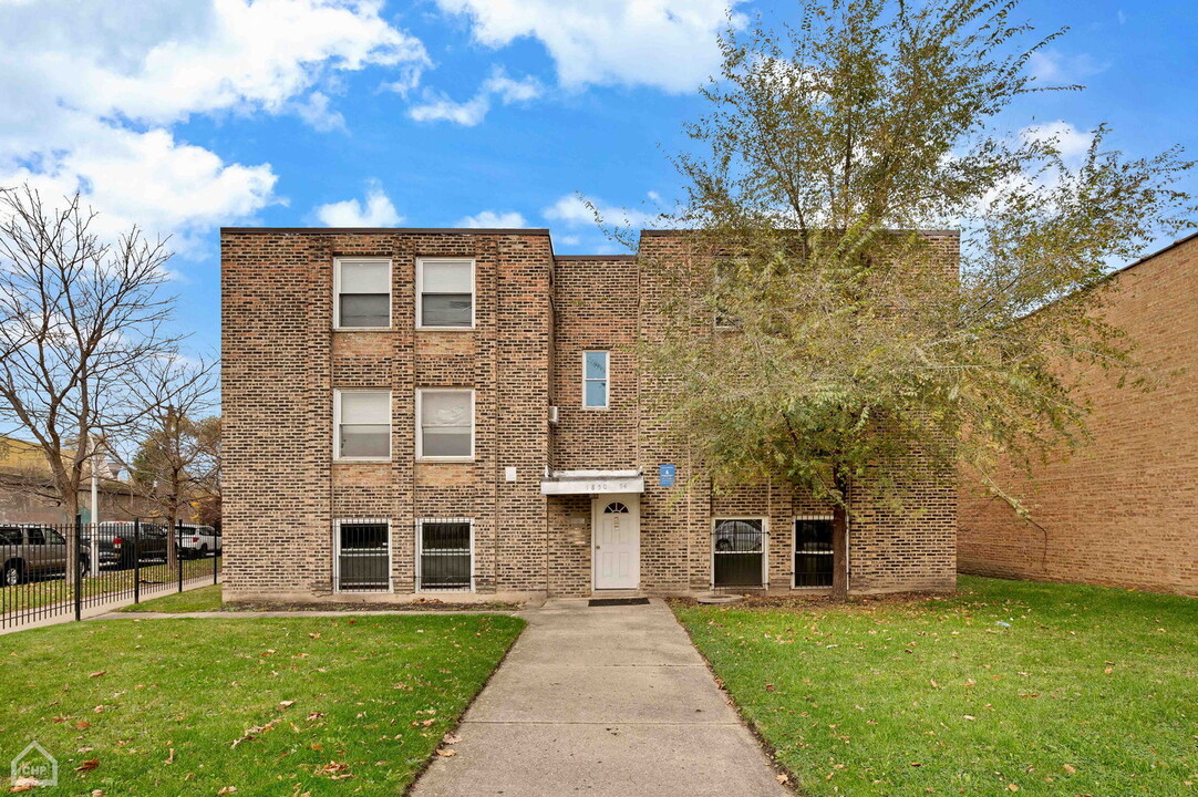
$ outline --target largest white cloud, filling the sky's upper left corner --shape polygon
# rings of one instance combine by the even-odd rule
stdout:
[[[0,2],[0,185],[47,201],[83,191],[105,228],[176,234],[278,201],[270,164],[181,141],[198,114],[296,113],[344,123],[319,90],[368,66],[412,80],[428,62],[379,0]]]

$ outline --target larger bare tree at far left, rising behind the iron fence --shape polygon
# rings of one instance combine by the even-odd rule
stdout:
[[[181,342],[165,328],[167,242],[137,227],[104,240],[95,219],[78,194],[50,209],[28,186],[0,189],[0,430],[37,443],[68,517],[98,441],[165,398],[139,386]]]

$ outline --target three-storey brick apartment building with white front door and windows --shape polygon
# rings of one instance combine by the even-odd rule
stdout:
[[[955,258],[955,234],[930,234]],[[830,512],[713,494],[646,407],[661,328],[637,255],[547,230],[222,231],[229,599],[583,596],[830,585]],[[700,475],[701,476],[701,475]],[[852,497],[854,592],[948,590],[955,479]]]

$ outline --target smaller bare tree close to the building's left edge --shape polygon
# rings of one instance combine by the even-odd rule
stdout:
[[[138,424],[141,445],[132,482],[173,530],[167,542],[171,567],[179,561],[174,530],[219,478],[219,421],[205,417],[216,406],[216,360],[163,360],[141,374],[150,411]]]

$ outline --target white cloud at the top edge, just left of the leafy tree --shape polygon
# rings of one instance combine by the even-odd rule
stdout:
[[[467,14],[474,38],[504,47],[537,38],[563,86],[648,85],[689,92],[714,74],[716,34],[742,0],[436,0]],[[733,17],[733,24],[743,18]]]

